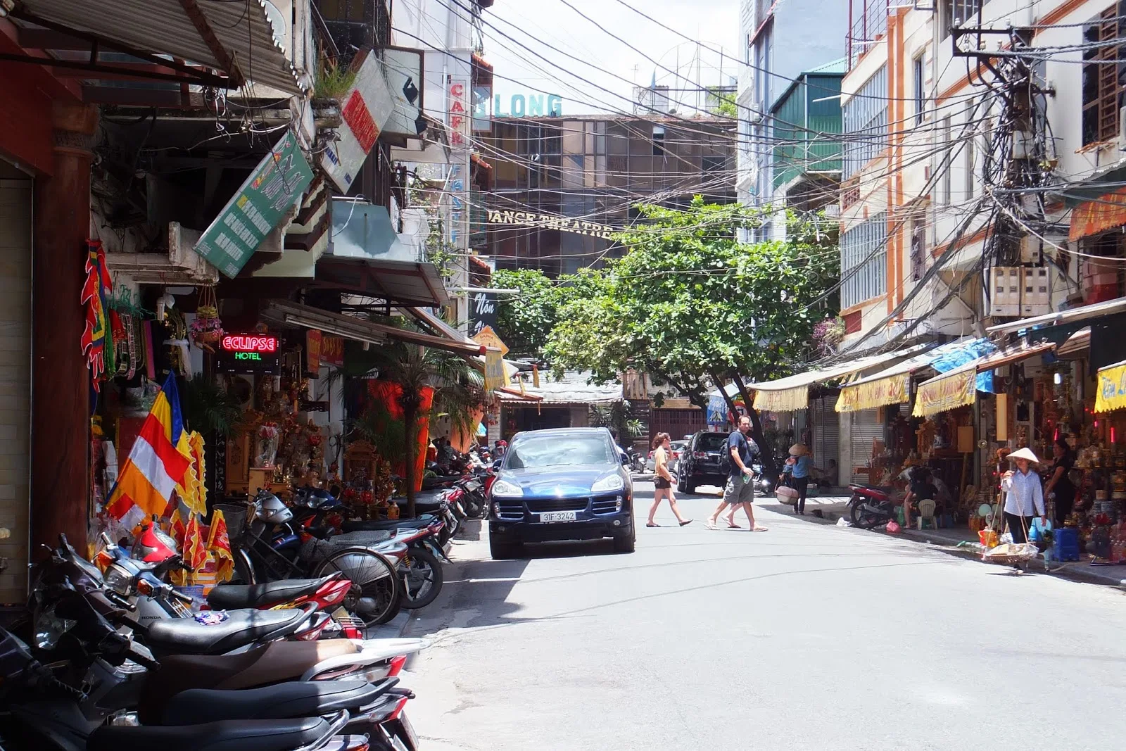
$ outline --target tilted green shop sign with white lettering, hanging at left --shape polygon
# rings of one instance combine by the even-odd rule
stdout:
[[[199,238],[195,251],[232,279],[313,181],[293,131],[286,131]]]

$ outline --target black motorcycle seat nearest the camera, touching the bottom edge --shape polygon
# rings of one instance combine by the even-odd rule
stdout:
[[[87,751],[293,751],[329,732],[321,717],[303,719],[225,719],[203,725],[102,725],[90,734]]]

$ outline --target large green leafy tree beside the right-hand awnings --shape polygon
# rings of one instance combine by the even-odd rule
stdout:
[[[628,251],[600,294],[561,310],[547,345],[555,367],[597,381],[634,367],[703,408],[715,381],[735,378],[749,399],[745,382],[806,359],[824,318],[816,304],[838,276],[833,223],[790,215],[786,242],[743,244],[735,230],[759,217],[740,205],[697,197],[687,211],[640,209],[646,222],[616,235]]]

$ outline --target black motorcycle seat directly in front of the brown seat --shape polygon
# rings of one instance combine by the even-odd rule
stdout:
[[[164,707],[162,725],[191,725],[208,719],[286,719],[358,710],[374,703],[395,683],[387,678],[377,685],[366,680],[324,680],[278,683],[262,688],[226,691],[195,688],[172,697]]]

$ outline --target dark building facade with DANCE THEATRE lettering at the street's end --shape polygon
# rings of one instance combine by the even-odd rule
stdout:
[[[734,135],[721,116],[495,118],[481,138],[493,173],[483,252],[549,276],[614,258],[607,235],[629,226],[636,203],[734,200]]]

